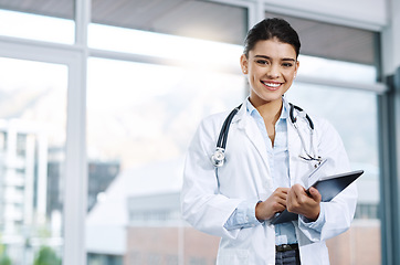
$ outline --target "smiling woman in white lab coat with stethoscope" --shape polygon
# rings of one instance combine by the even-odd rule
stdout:
[[[349,229],[357,190],[349,186],[330,202],[305,188],[308,174],[349,171],[343,142],[324,119],[308,119],[284,97],[299,67],[296,31],[282,19],[254,25],[240,64],[250,96],[233,116],[222,167],[212,155],[229,113],[202,120],[189,147],[181,191],[182,215],[193,227],[221,237],[220,265],[329,264],[327,239]],[[291,120],[291,112],[296,123]],[[273,225],[287,209],[298,219]]]

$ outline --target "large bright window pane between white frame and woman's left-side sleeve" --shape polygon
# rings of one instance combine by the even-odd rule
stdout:
[[[196,258],[183,257],[190,253],[183,245],[203,239],[180,218],[183,157],[200,119],[240,104],[243,87],[241,75],[90,60],[88,160],[118,171],[112,176],[104,166],[113,182],[88,191],[97,199],[86,220],[88,264],[118,256],[128,264]],[[99,172],[90,182],[102,182]],[[204,248],[212,259],[217,244]]]

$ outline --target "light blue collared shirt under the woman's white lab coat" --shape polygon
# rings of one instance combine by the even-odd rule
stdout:
[[[265,148],[267,150],[271,176],[274,184],[274,189],[278,187],[290,188],[291,179],[288,171],[288,149],[287,149],[287,118],[288,110],[283,105],[280,119],[275,124],[275,140],[274,146],[267,135],[264,119],[254,106],[246,100],[246,112],[254,118],[256,125],[263,135]],[[255,218],[255,205],[259,201],[249,200],[243,201],[238,205],[235,211],[229,218],[224,227],[227,230],[252,227],[260,224],[260,221]],[[318,219],[316,222],[304,221],[304,224],[308,227],[320,232],[323,220]],[[302,222],[301,221],[301,222]],[[295,227],[292,222],[276,224],[275,225],[275,244],[294,244],[297,243]]]

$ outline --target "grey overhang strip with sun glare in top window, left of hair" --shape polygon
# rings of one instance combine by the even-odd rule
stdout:
[[[246,14],[245,8],[211,1],[92,1],[96,24],[240,45],[248,30]]]

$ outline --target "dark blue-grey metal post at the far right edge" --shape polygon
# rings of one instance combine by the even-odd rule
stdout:
[[[380,216],[382,264],[400,264],[400,67],[387,77],[389,89],[378,98],[380,147]]]

